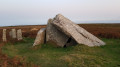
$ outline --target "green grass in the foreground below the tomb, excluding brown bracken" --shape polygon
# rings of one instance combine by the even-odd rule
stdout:
[[[102,40],[106,42],[105,46],[55,48],[43,44],[41,48],[33,49],[34,39],[25,38],[24,42],[6,44],[2,52],[9,57],[24,57],[26,62],[41,67],[120,67],[120,40]]]

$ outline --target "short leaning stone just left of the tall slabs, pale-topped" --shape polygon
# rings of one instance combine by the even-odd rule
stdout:
[[[45,30],[46,30],[45,28],[42,28],[39,30],[33,46],[36,46],[39,44],[44,44],[44,42],[45,42]]]

